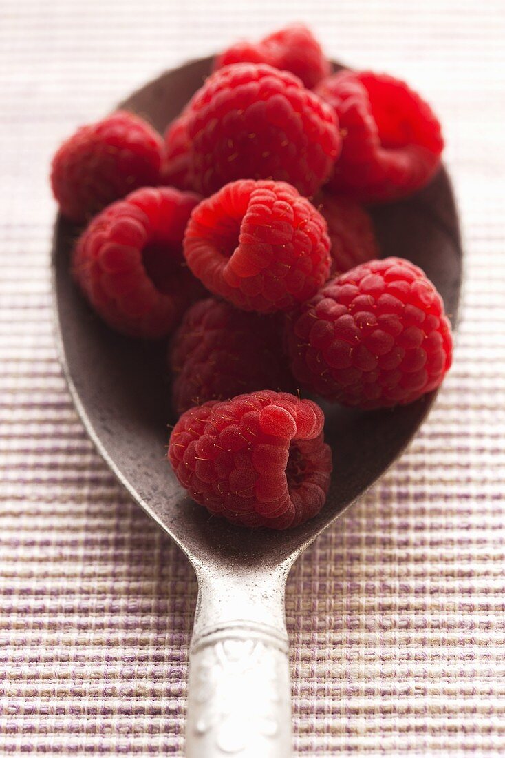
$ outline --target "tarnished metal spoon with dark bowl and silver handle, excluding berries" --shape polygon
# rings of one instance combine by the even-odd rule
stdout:
[[[193,61],[162,75],[121,107],[144,115],[163,131],[201,86],[211,61]],[[454,323],[462,252],[444,168],[412,198],[376,208],[373,220],[382,255],[399,255],[421,266]],[[397,459],[426,418],[434,394],[376,412],[322,403],[335,470],[326,506],[304,525],[284,532],[251,531],[211,518],[186,496],[164,456],[167,422],[175,420],[165,347],[114,334],[91,312],[69,271],[78,232],[59,217],[53,249],[58,346],[73,402],[105,462],[133,500],[175,540],[198,578],[186,755],[287,758],[288,572],[317,535]]]

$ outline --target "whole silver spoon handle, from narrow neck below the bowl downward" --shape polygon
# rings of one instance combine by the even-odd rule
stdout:
[[[247,579],[241,585],[236,578],[199,577],[187,758],[291,756],[285,577],[263,580],[258,586]]]

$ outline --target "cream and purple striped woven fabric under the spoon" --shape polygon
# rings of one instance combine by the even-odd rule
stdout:
[[[296,19],[433,103],[467,283],[429,421],[288,582],[295,747],[505,752],[502,0],[2,0],[2,755],[181,756],[196,597],[182,554],[92,449],[58,366],[51,154],[160,70]]]

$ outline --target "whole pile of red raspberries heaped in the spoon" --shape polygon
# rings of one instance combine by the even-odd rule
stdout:
[[[162,137],[117,111],[52,161],[83,224],[72,270],[129,337],[169,339],[168,458],[182,487],[237,525],[316,515],[332,454],[323,411],[413,402],[450,367],[426,275],[380,258],[363,203],[410,195],[443,148],[406,83],[338,70],[302,26],[239,42]]]

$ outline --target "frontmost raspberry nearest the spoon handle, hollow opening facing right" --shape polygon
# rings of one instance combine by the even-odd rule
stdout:
[[[270,390],[186,411],[168,458],[182,487],[234,524],[285,529],[312,518],[328,493],[332,453],[323,411]]]

